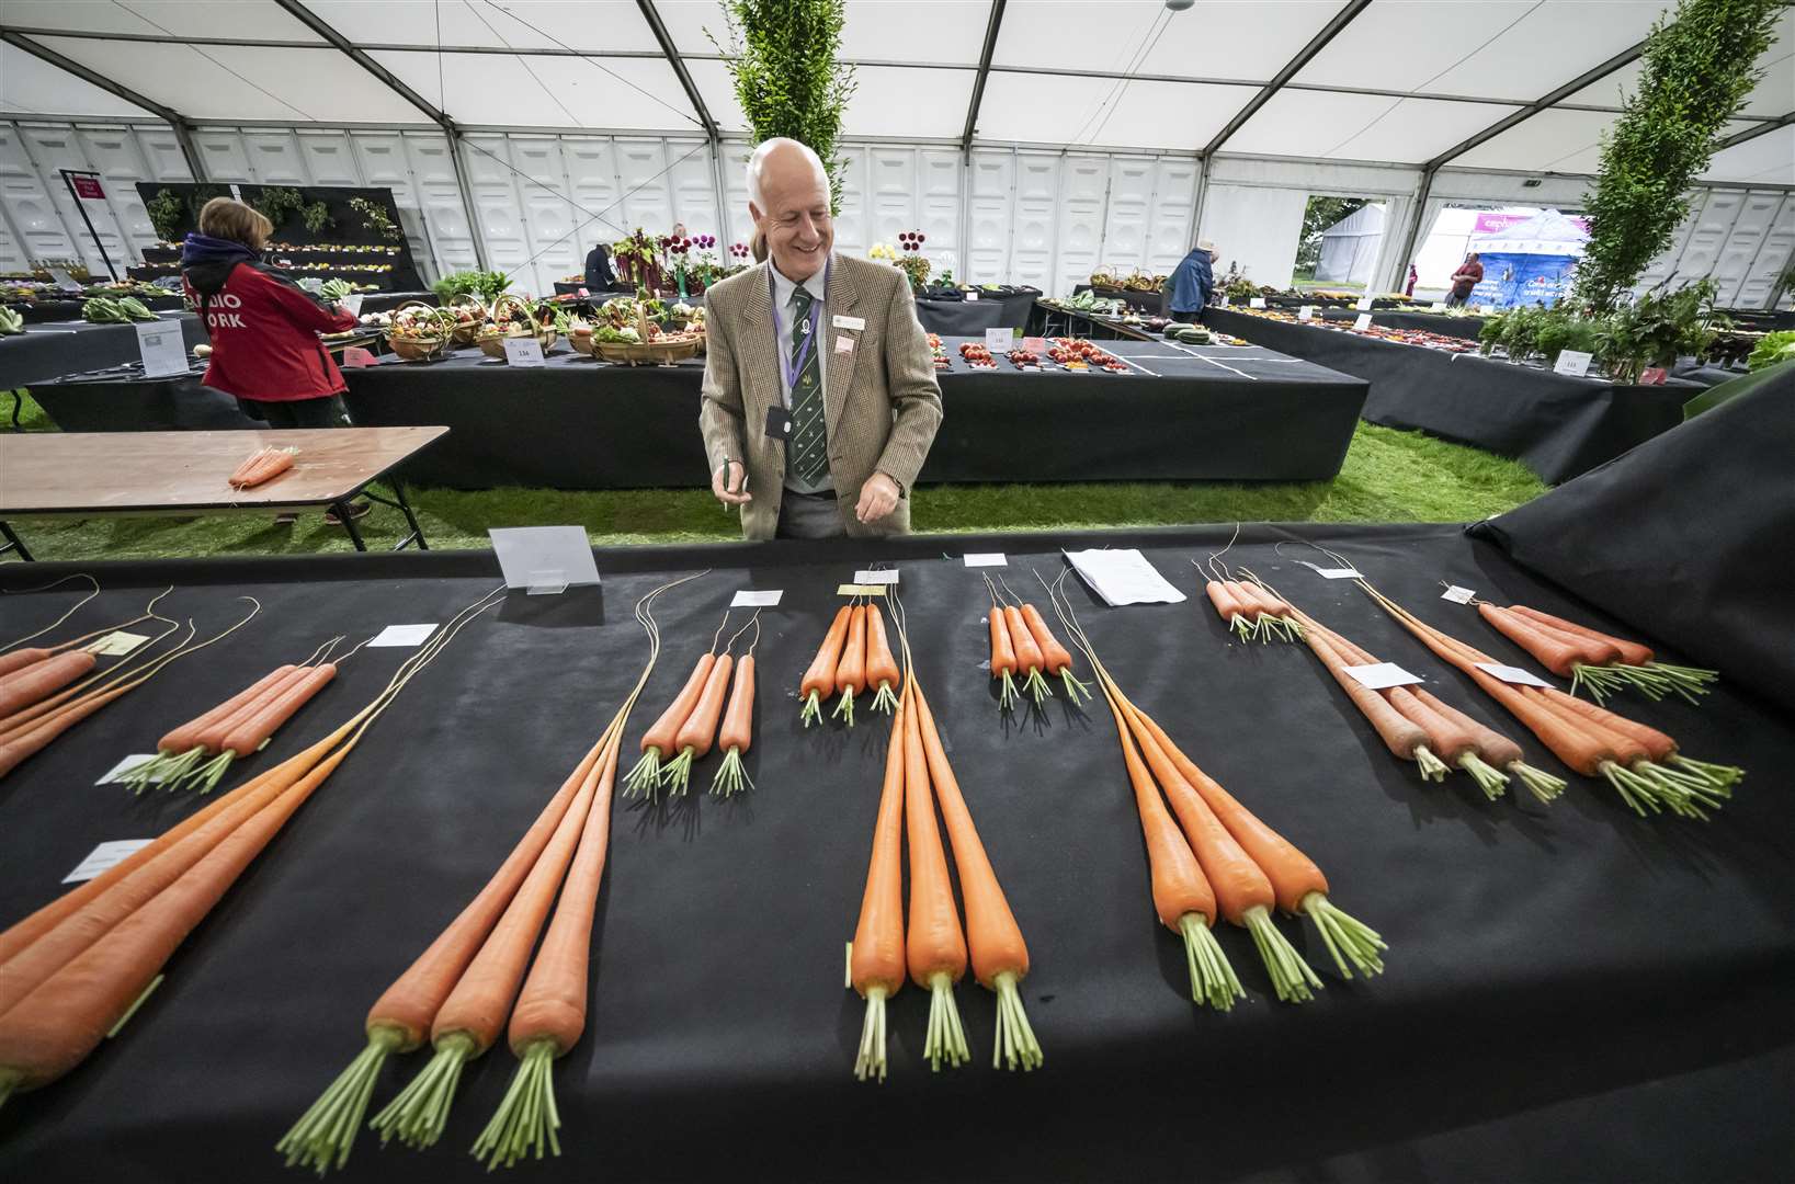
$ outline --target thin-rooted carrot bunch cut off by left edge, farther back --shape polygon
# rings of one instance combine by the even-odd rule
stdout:
[[[43,752],[50,741],[99,709],[149,682],[171,662],[230,637],[262,610],[255,597],[244,596],[241,599],[250,601],[251,608],[242,621],[197,644],[194,642],[194,622],[188,621],[187,635],[172,649],[158,655],[154,653],[156,646],[181,628],[180,622],[160,617],[154,612],[156,601],[169,596],[169,592],[172,588],[158,594],[144,614],[126,622],[163,621],[169,628],[149,639],[133,657],[108,671],[95,671],[92,653],[63,646],[56,648],[63,649],[61,653],[54,649],[14,649],[4,655],[4,658],[16,662],[16,666],[11,667],[11,673],[0,675],[0,777],[11,773],[27,757]],[[65,642],[65,646],[70,644],[74,642]],[[83,675],[86,678],[81,678]]]

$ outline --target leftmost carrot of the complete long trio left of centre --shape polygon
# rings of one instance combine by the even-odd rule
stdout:
[[[661,631],[650,612],[650,605],[661,592],[695,578],[675,579],[637,601],[635,619],[648,633],[650,649],[648,664],[632,691],[632,703],[641,696],[643,685],[648,682],[648,675],[653,671],[655,658],[661,653]],[[431,942],[429,949],[368,1008],[368,1017],[363,1024],[368,1035],[366,1048],[337,1075],[323,1094],[320,1094],[318,1101],[300,1116],[275,1146],[276,1152],[287,1157],[289,1168],[307,1166],[318,1170],[321,1175],[330,1166],[341,1168],[348,1162],[348,1154],[355,1145],[355,1134],[361,1130],[381,1066],[391,1053],[411,1051],[429,1035],[443,1001],[456,988],[461,974],[479,953],[481,944],[499,922],[501,913],[506,911],[519,886],[530,875],[531,868],[535,868],[538,856],[560,827],[580,788],[600,757],[605,755],[605,746],[621,744],[623,732],[625,719],[617,716],[585,753],[578,768],[562,782],[547,805],[542,807],[542,813],[537,814],[537,820],[517,841],[517,847],[512,849],[512,854],[504,858],[499,870],[486,881],[486,886],[479,890],[479,895],[461,910],[454,922]]]

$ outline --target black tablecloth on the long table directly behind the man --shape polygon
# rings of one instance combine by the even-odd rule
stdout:
[[[1267,350],[1185,352],[1118,343],[1149,373],[971,371],[946,341],[946,422],[923,483],[1321,481],[1339,472],[1364,384]],[[1208,353],[1217,361],[1203,361]],[[603,366],[564,344],[542,370],[463,350],[442,362],[346,371],[348,409],[368,427],[447,423],[407,461],[418,484],[564,490],[693,486],[702,359]]]

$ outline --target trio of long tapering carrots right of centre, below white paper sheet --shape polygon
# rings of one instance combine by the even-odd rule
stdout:
[[[1309,917],[1344,978],[1352,978],[1353,969],[1379,974],[1386,945],[1377,931],[1341,911],[1309,856],[1197,768],[1165,728],[1122,694],[1072,601],[1054,588],[1048,596],[1109,700],[1147,841],[1154,911],[1165,927],[1185,938],[1190,997],[1221,1010],[1246,997],[1212,933],[1217,918],[1251,933],[1278,999],[1305,1003],[1314,997],[1321,978],[1273,924],[1273,908]],[[1178,814],[1176,823],[1167,814],[1167,802]]]

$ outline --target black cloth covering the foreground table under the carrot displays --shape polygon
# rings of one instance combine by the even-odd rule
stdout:
[[[1152,917],[1109,719],[1100,705],[1068,714],[1055,698],[1045,719],[1003,727],[980,667],[984,587],[942,553],[1007,551],[1009,583],[1023,590],[1029,569],[1057,570],[1061,545],[1143,545],[1199,597],[1186,560],[1230,533],[643,547],[600,553],[603,592],[513,596],[373,725],[171,960],[120,1037],[0,1110],[0,1177],[298,1179],[280,1170],[273,1143],[363,1046],[368,1005],[486,881],[635,678],[646,644],[634,601],[670,572],[711,567],[659,605],[666,648],[628,734],[673,696],[738,588],[784,588],[756,651],[747,766],[757,788],[727,805],[696,795],[668,814],[617,804],[591,1015],[555,1067],[564,1155],[521,1171],[840,1180],[865,1175],[880,1132],[921,1132],[905,1146],[926,1148],[928,1179],[1414,1179],[1420,1162],[1465,1164],[1467,1148],[1479,1157],[1445,1179],[1784,1179],[1795,1089],[1786,1071],[1761,1066],[1795,1040],[1795,798],[1777,773],[1795,759],[1795,732],[1730,685],[1703,709],[1639,707],[1694,755],[1756,771],[1709,823],[1639,820],[1581,779],[1551,807],[1484,802],[1463,777],[1429,786],[1391,759],[1301,648],[1230,644],[1199,599],[1106,610],[1073,587],[1131,696],[1316,858],[1339,906],[1391,947],[1382,978],[1348,983],[1327,969],[1327,990],[1298,1008],[1267,997],[1251,942],[1228,929],[1219,938],[1251,999],[1228,1015],[1192,1006],[1183,951]],[[1296,535],[1510,658],[1519,651],[1472,610],[1438,599],[1436,579],[1572,610],[1458,527]],[[1248,527],[1230,560],[1558,768],[1361,592],[1276,554],[1271,542],[1287,536]],[[806,732],[790,687],[835,610],[835,585],[872,560],[899,563],[921,678],[1029,940],[1027,1008],[1046,1053],[1029,1076],[989,1067],[993,1001],[962,983],[975,1064],[928,1073],[926,994],[910,988],[890,1006],[890,1080],[853,1080],[863,1008],[842,988],[842,942],[860,906],[883,732]],[[81,569],[106,592],[70,630],[127,617],[171,581],[176,594],[160,605],[171,615],[217,626],[246,594],[264,612],[187,673],[126,696],[5,779],[0,920],[61,892],[95,843],[154,834],[197,807],[185,795],[95,788],[118,757],[271,662],[334,633],[443,621],[497,583],[488,554]],[[45,565],[31,583],[61,570]],[[4,612],[22,631],[68,603],[5,597]],[[600,603],[603,626],[583,628]],[[363,649],[244,773],[346,718],[402,657]],[[713,766],[698,768],[700,780]],[[1280,927],[1327,963],[1312,929]],[[513,1064],[501,1048],[468,1066],[434,1150],[382,1150],[363,1132],[334,1179],[492,1179],[467,1146]],[[1773,1064],[1786,1069],[1786,1055]],[[395,1058],[373,1105],[420,1066],[418,1055]],[[1671,1089],[1687,1109],[1666,1118],[1655,1101],[1666,1091],[1644,1085],[1691,1073],[1698,1087]],[[1535,1107],[1578,1121],[1542,1132]],[[1492,1137],[1504,1121],[1531,1137]],[[1468,1143],[1449,1134],[1467,1125]],[[1332,1168],[1307,1170],[1319,1162]],[[899,1175],[894,1164],[880,1161],[874,1175]]]

